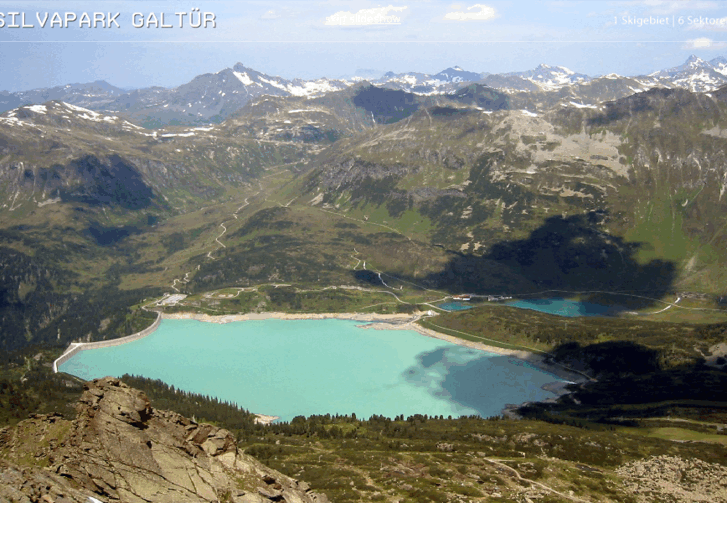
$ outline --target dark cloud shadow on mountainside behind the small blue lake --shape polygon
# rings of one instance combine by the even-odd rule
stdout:
[[[672,291],[677,273],[674,263],[661,259],[639,263],[636,254],[640,243],[604,233],[598,223],[595,212],[568,218],[552,216],[527,238],[497,242],[482,256],[450,251],[452,257],[441,272],[416,279],[396,276],[450,293],[482,295],[612,291],[658,299]],[[378,276],[352,274],[359,281],[380,283]],[[383,278],[386,281],[385,273]],[[598,299],[596,294],[591,297]],[[628,301],[632,309],[651,304],[653,301],[647,299]]]

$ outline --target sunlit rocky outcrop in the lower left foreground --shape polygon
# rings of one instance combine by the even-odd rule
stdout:
[[[237,450],[227,430],[153,409],[115,378],[86,384],[73,421],[0,430],[3,502],[326,501]]]

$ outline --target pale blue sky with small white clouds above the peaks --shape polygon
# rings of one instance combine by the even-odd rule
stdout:
[[[215,28],[191,28],[188,16],[179,28],[175,12],[190,6],[214,13]],[[9,28],[11,12],[25,13],[33,28]],[[37,16],[46,12],[40,28]],[[50,28],[54,12],[77,20]],[[79,28],[84,12],[118,12],[118,28]],[[498,73],[540,63],[637,75],[691,54],[727,56],[727,2],[708,0],[0,0],[0,13],[0,90],[9,91],[98,79],[171,87],[236,62],[287,78],[357,69],[436,73],[454,65]],[[173,28],[154,28],[153,20],[149,26],[150,13],[159,24],[164,13]],[[21,24],[21,16],[14,21]]]

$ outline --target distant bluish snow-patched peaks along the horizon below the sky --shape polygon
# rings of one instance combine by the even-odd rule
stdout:
[[[150,87],[124,91],[97,81],[15,93],[2,92],[0,111],[59,100],[92,110],[121,114],[147,128],[198,126],[220,122],[263,95],[316,97],[361,81],[360,77],[349,80],[287,80],[237,63],[232,68],[197,76],[189,83],[171,89]],[[504,74],[470,72],[454,66],[433,75],[387,72],[371,83],[418,95],[448,93],[470,83],[480,83],[513,95],[527,94],[527,97],[521,96],[522,101],[529,100],[531,106],[542,108],[561,100],[613,100],[654,87],[714,91],[727,84],[727,60],[717,57],[707,62],[692,55],[680,66],[650,75],[628,77],[608,74],[593,78],[562,66],[545,64],[534,70]]]

